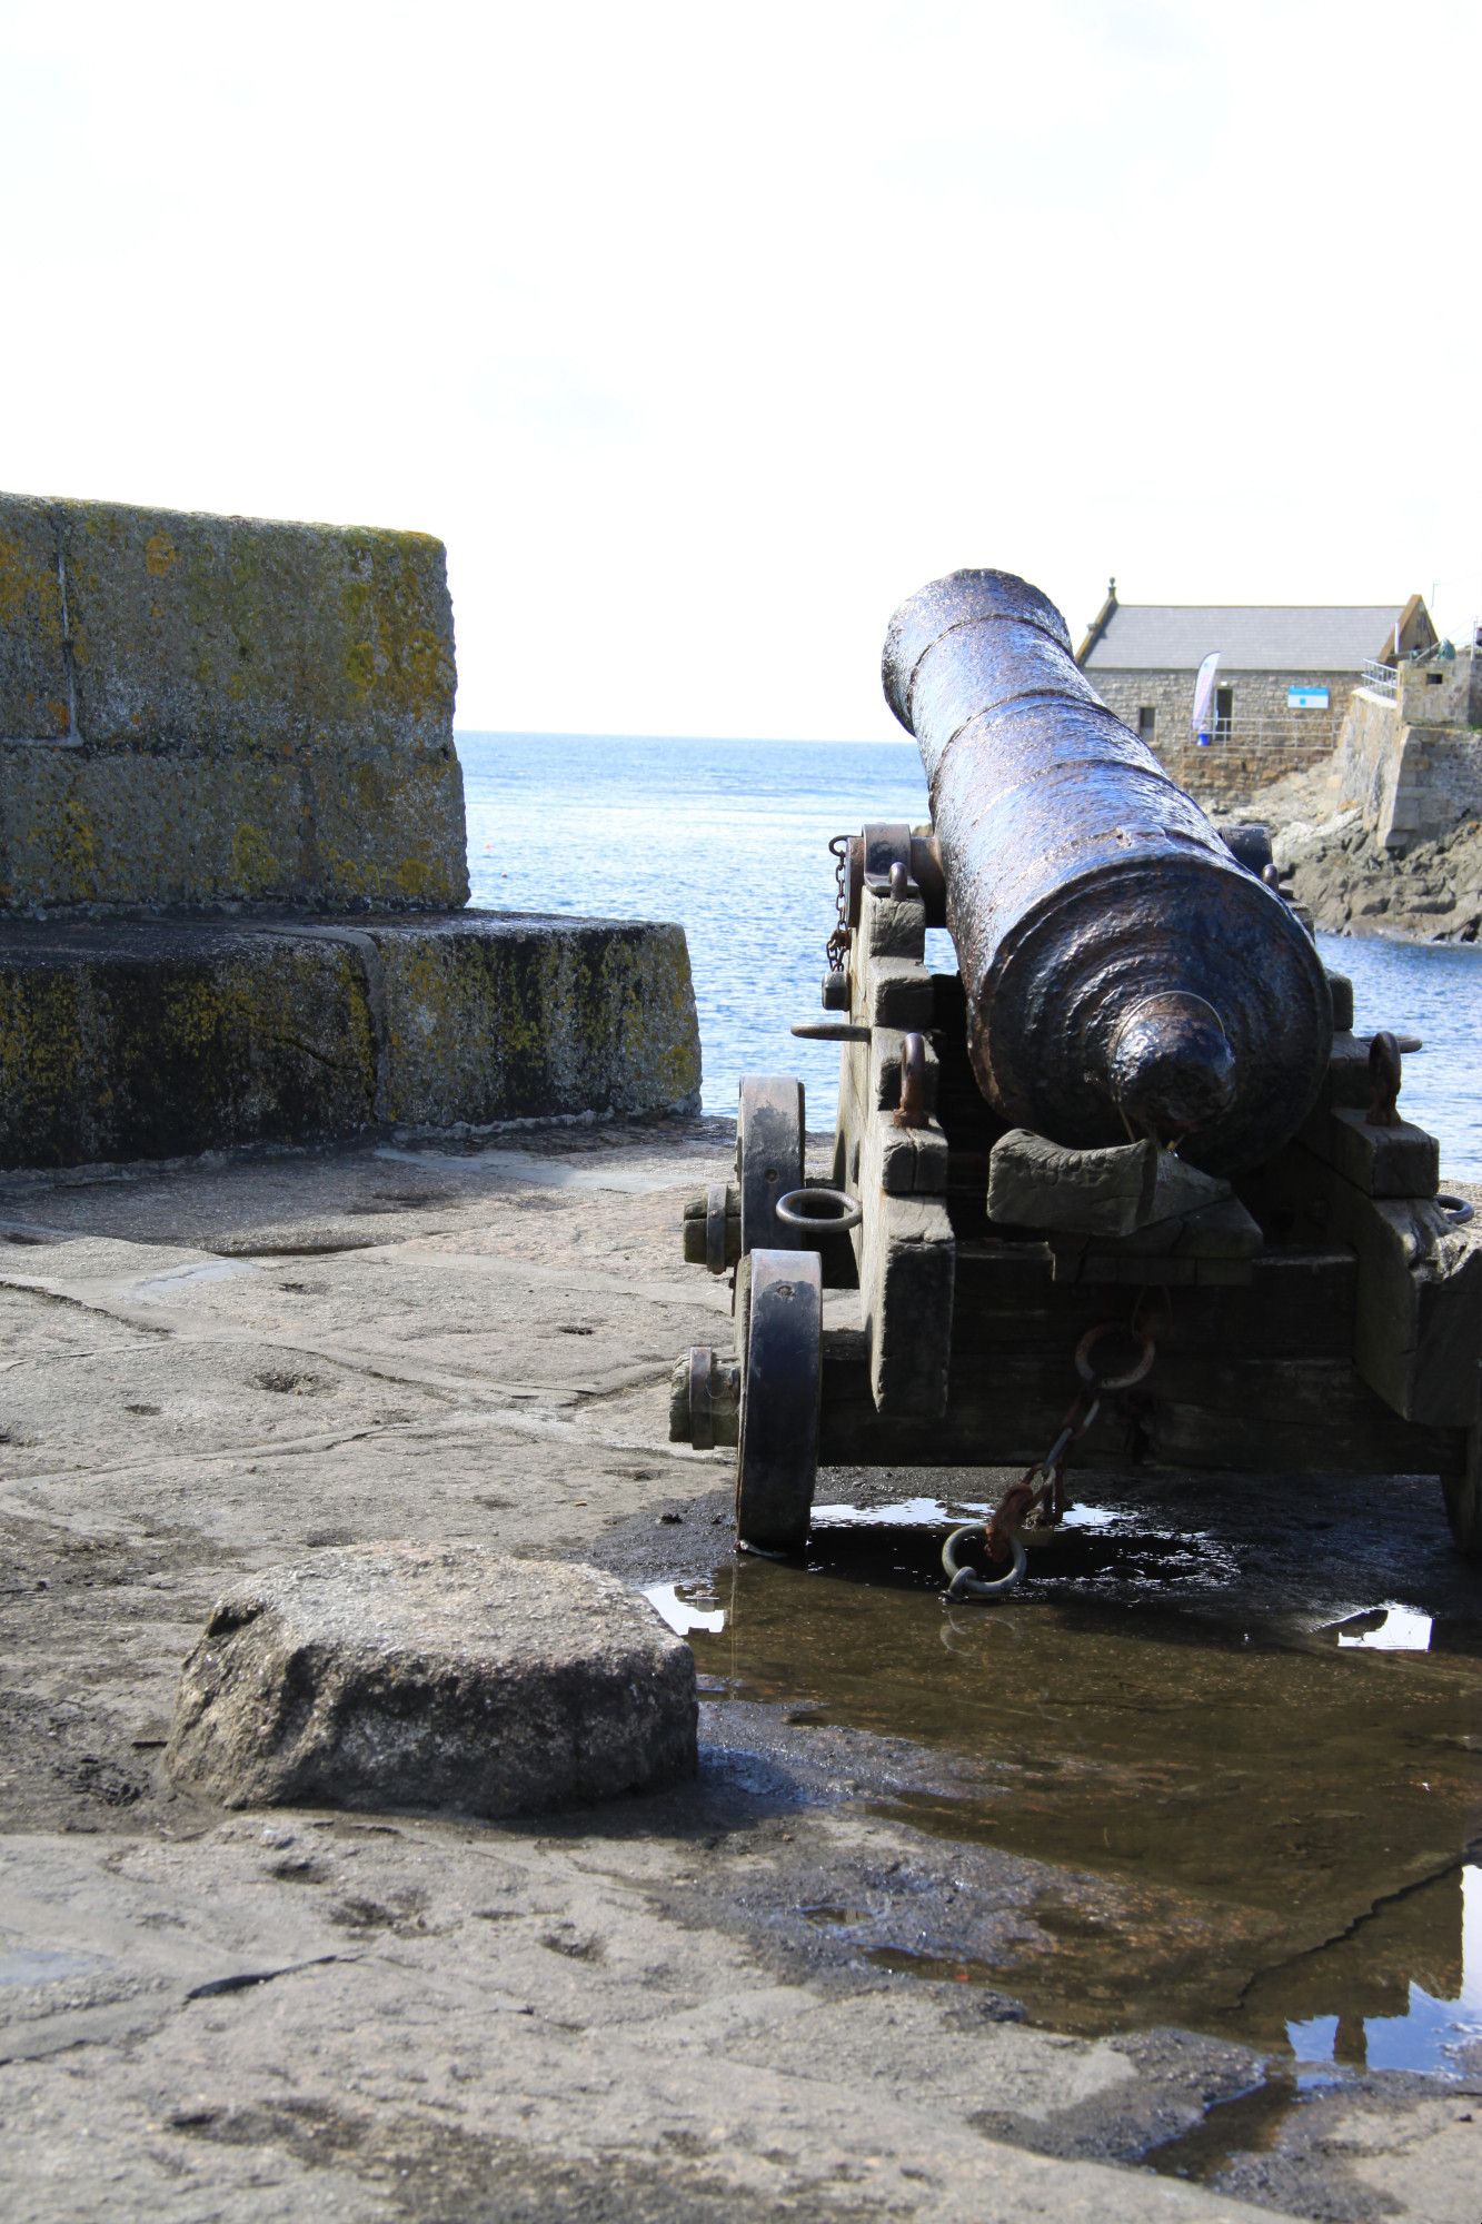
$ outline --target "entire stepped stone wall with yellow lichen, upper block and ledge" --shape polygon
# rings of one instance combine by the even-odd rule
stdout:
[[[0,494],[0,1168],[690,1112],[681,927],[467,912],[427,534]]]

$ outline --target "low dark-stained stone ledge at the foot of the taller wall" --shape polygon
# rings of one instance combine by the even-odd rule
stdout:
[[[461,912],[0,939],[4,1170],[692,1112],[699,1081],[681,927]]]

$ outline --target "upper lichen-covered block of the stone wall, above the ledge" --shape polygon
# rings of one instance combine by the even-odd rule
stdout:
[[[0,494],[0,912],[467,901],[427,534]]]

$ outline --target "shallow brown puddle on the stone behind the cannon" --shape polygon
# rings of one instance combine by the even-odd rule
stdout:
[[[1064,1873],[1001,1964],[908,1946],[888,1913],[808,1919],[1066,2031],[1177,2024],[1293,2075],[1455,2071],[1482,2039],[1475,1635],[1397,1601],[1326,1630],[1231,1621],[1213,1546],[1095,1508],[1046,1550],[1115,1563],[1115,1599],[946,1610],[941,1523],[964,1515],[828,1506],[803,1566],[665,1586],[710,1699],[903,1741],[881,1813]]]

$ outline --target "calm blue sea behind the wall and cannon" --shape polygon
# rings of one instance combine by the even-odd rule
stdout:
[[[910,741],[643,741],[458,734],[472,901],[503,912],[676,919],[690,939],[705,1112],[734,1114],[748,1072],[801,1074],[808,1125],[830,1128],[839,1052],[799,1043],[819,1012],[834,921],[830,834],[926,818]],[[950,963],[946,934],[930,952]],[[1355,985],[1357,1025],[1420,1034],[1402,1110],[1442,1139],[1442,1168],[1482,1181],[1482,947],[1320,936]]]

